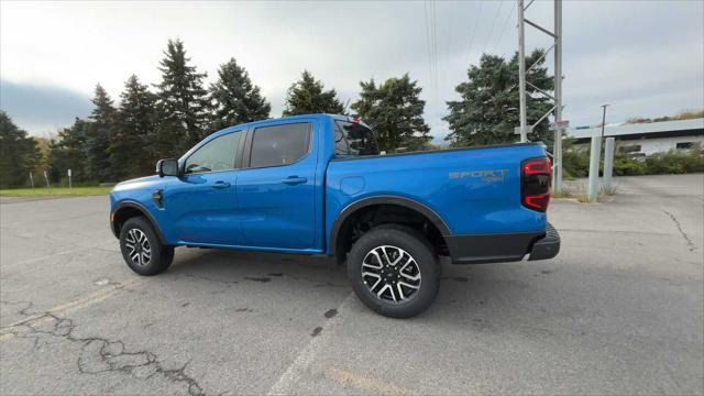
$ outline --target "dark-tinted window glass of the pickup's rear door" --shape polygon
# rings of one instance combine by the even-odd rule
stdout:
[[[250,166],[277,166],[294,163],[308,153],[310,124],[293,123],[254,130]]]

